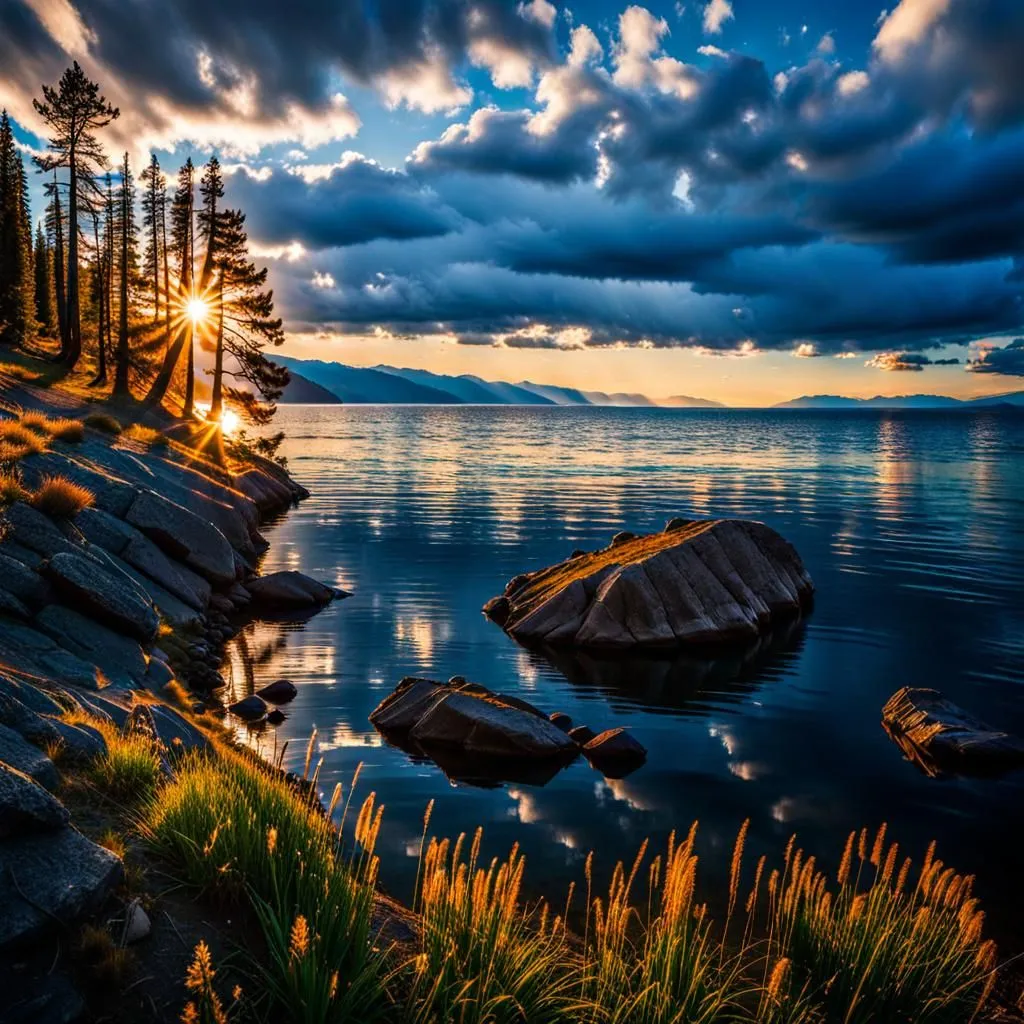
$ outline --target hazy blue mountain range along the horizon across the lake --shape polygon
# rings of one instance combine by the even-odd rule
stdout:
[[[302,404],[384,406],[616,406],[633,408],[725,409],[720,401],[677,394],[653,399],[645,394],[616,391],[583,391],[532,381],[485,381],[462,374],[458,377],[429,370],[398,367],[350,367],[322,359],[275,356],[292,374],[283,402]],[[1024,408],[1024,391],[987,395],[982,398],[950,398],[940,394],[911,394],[874,398],[849,398],[836,394],[803,395],[782,401],[774,409],[974,409],[989,406]]]

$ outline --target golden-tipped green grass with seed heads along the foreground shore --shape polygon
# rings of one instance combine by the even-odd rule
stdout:
[[[372,927],[383,808],[362,804],[354,843],[318,805],[250,752],[215,740],[159,771],[142,737],[108,726],[93,779],[131,797],[137,827],[181,880],[258,926],[270,1019],[301,1024],[387,1018],[411,1024],[968,1024],[985,1019],[996,952],[972,880],[929,850],[913,870],[886,829],[851,836],[822,871],[793,841],[777,867],[744,862],[746,825],[715,921],[700,896],[697,826],[620,864],[606,892],[583,882],[582,934],[522,899],[525,859],[481,861],[471,841],[427,838],[424,821],[411,947]],[[304,776],[310,773],[312,739]],[[354,780],[353,780],[354,784]],[[347,811],[347,807],[346,807]],[[344,814],[342,819],[344,820]],[[197,952],[195,1020],[226,1013]],[[202,963],[200,963],[202,961]],[[205,967],[204,967],[205,964]],[[200,985],[200,981],[202,985]],[[202,998],[201,993],[207,993]],[[211,994],[212,993],[212,994]],[[207,1016],[202,1016],[203,1014]]]

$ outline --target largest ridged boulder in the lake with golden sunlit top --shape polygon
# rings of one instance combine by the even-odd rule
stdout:
[[[814,586],[764,523],[674,519],[660,534],[516,577],[484,611],[528,644],[671,647],[753,640]]]

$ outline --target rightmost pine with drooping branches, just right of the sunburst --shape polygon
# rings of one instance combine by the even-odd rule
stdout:
[[[267,358],[267,345],[285,340],[281,317],[273,315],[273,292],[266,288],[266,267],[256,269],[249,258],[245,214],[217,214],[217,246],[213,264],[218,273],[217,339],[210,419],[219,421],[224,398],[240,406],[253,423],[269,422],[273,402],[288,384],[288,371]],[[224,383],[230,377],[242,387]]]

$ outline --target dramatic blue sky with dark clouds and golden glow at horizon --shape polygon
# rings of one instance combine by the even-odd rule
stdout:
[[[78,60],[112,156],[216,153],[290,355],[1022,389],[1024,2],[880,2],[2,0],[0,105]]]

